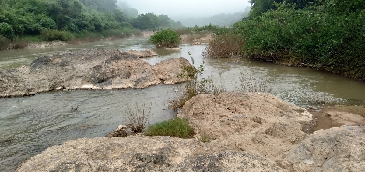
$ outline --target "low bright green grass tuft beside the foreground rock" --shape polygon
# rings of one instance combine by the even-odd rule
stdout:
[[[175,118],[149,126],[145,132],[145,135],[172,136],[187,139],[194,135],[194,129],[192,126],[190,126],[188,120]]]

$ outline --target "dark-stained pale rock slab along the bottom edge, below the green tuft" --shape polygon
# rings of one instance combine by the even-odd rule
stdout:
[[[47,148],[16,172],[277,172],[250,152],[205,149],[193,139],[169,136],[83,138]]]

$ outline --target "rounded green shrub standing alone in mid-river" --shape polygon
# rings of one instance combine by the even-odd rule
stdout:
[[[155,45],[157,48],[172,48],[176,47],[176,45],[180,43],[180,36],[177,32],[171,29],[162,29],[154,33],[147,41]]]

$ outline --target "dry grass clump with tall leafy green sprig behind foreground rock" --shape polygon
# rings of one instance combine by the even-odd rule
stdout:
[[[163,103],[165,107],[177,110],[185,105],[189,99],[197,96],[198,94],[213,94],[219,95],[226,92],[226,88],[222,83],[215,83],[209,77],[201,77],[204,71],[204,61],[201,62],[199,67],[196,68],[194,58],[190,52],[188,52],[193,65],[193,76],[191,81],[188,81],[185,86],[179,86],[173,88],[172,97],[167,97]]]

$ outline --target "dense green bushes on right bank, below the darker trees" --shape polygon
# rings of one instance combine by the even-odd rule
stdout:
[[[342,16],[279,5],[234,28],[246,37],[246,56],[365,80],[364,25],[364,10]]]

